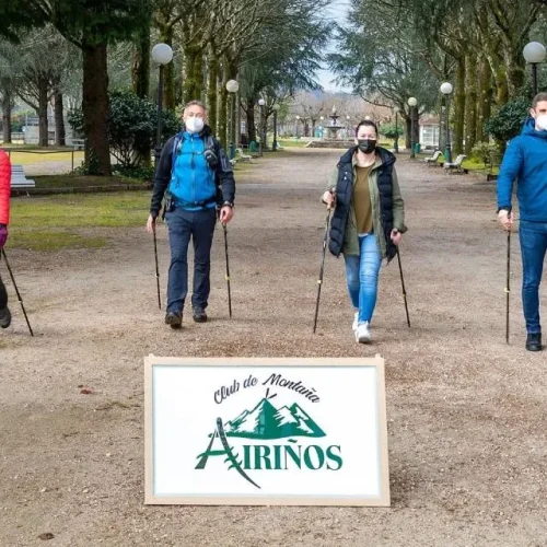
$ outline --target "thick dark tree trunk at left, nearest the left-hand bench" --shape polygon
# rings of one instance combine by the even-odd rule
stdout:
[[[85,165],[89,174],[110,175],[108,147],[108,72],[107,45],[85,44],[83,54],[83,132]]]

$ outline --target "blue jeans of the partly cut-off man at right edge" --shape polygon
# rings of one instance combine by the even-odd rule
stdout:
[[[521,220],[519,228],[522,254],[522,304],[526,331],[542,331],[539,324],[539,283],[547,251],[547,222]]]

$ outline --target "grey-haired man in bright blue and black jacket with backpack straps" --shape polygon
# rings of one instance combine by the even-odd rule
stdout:
[[[235,182],[232,164],[206,125],[206,114],[199,101],[186,105],[183,130],[167,140],[156,166],[147,222],[147,230],[152,233],[165,197],[164,213],[171,246],[165,323],[172,328],[181,328],[183,324],[190,237],[194,243],[193,318],[196,323],[207,321],[217,210],[223,224],[233,216]]]

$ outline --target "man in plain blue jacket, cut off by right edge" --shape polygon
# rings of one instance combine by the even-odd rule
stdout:
[[[526,319],[526,349],[540,351],[539,283],[547,251],[547,93],[538,93],[524,125],[505,151],[498,176],[498,219],[505,230],[513,225],[512,193],[517,181],[522,301]]]

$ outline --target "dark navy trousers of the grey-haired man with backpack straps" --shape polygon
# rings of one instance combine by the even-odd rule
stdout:
[[[171,246],[167,312],[182,312],[188,294],[188,244],[194,244],[194,292],[191,305],[207,307],[211,283],[211,246],[217,222],[214,208],[201,211],[175,209],[165,214]]]

